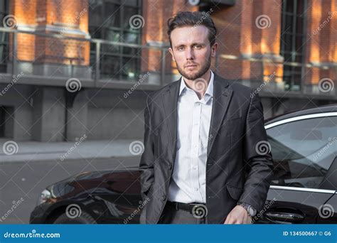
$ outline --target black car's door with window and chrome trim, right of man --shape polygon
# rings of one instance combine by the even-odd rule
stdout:
[[[333,196],[331,210],[336,208],[336,184],[331,184],[331,173],[336,177],[336,170],[331,165],[337,156],[337,112],[284,119],[268,124],[266,130],[274,178],[267,202],[254,221],[303,224],[331,220],[321,216],[325,217],[326,203]]]

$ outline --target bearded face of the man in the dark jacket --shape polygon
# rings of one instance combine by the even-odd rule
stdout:
[[[171,32],[171,45],[169,51],[180,74],[196,80],[210,69],[210,58],[215,56],[218,44],[210,47],[205,26],[184,26]]]

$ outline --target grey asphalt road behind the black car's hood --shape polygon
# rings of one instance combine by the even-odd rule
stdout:
[[[110,159],[0,162],[0,224],[27,224],[36,200],[46,186],[84,171],[138,166],[136,157]],[[21,200],[23,198],[23,200]],[[22,202],[18,203],[18,200]],[[13,203],[18,205],[13,212]],[[5,219],[1,218],[4,217]]]

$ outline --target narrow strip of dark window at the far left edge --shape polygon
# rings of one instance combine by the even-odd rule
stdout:
[[[0,0],[0,27],[4,27],[4,17],[9,14],[9,1]],[[0,72],[6,72],[9,59],[9,34],[0,31]]]

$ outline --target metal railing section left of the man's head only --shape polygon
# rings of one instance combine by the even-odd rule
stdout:
[[[89,58],[87,58],[87,64],[85,65],[75,65],[74,63],[83,63],[83,58],[82,57],[67,57],[67,56],[53,56],[53,55],[48,55],[47,58],[49,58],[50,60],[53,59],[63,59],[64,62],[60,62],[60,63],[54,63],[55,65],[60,66],[68,66],[70,67],[70,75],[68,77],[73,77],[74,75],[76,75],[75,70],[76,68],[82,67],[82,68],[87,68],[87,70],[90,70],[91,74],[90,77],[83,77],[83,80],[92,80],[95,83],[101,81],[101,80],[105,80],[105,82],[123,82],[126,80],[116,80],[113,77],[102,77],[101,75],[101,68],[102,68],[102,57],[105,57],[105,55],[107,55],[107,53],[103,53],[102,52],[102,45],[109,45],[110,47],[121,47],[121,48],[132,48],[132,49],[137,49],[140,50],[141,52],[144,52],[145,50],[147,50],[149,53],[151,52],[155,52],[155,55],[151,55],[149,53],[147,53],[148,56],[148,60],[151,59],[151,63],[154,63],[154,65],[151,65],[151,63],[149,63],[148,60],[146,60],[146,58],[144,58],[144,56],[141,57],[141,63],[139,63],[138,67],[135,67],[135,70],[141,69],[139,72],[150,72],[150,73],[156,73],[156,75],[159,77],[159,82],[154,82],[151,83],[150,85],[164,85],[166,83],[166,75],[171,75],[172,74],[172,70],[170,67],[166,67],[166,55],[168,54],[167,52],[167,47],[161,47],[161,46],[150,46],[150,45],[137,45],[137,44],[132,44],[132,43],[120,43],[120,42],[115,42],[115,41],[107,41],[107,40],[101,40],[101,39],[95,39],[95,38],[77,38],[77,37],[72,37],[72,36],[63,36],[62,34],[58,34],[58,33],[40,33],[40,32],[32,32],[32,31],[18,31],[16,29],[10,29],[10,28],[1,28],[0,27],[0,34],[2,35],[7,35],[7,38],[10,40],[8,43],[0,43],[0,48],[1,48],[1,44],[4,48],[6,48],[8,51],[7,53],[3,53],[3,55],[0,55],[1,60],[6,59],[6,64],[9,65],[10,67],[7,68],[6,72],[7,73],[11,73],[11,75],[17,75],[18,72],[20,70],[18,70],[18,65],[21,63],[41,63],[40,60],[38,60],[38,58],[41,58],[41,55],[36,58],[34,57],[34,60],[20,60],[18,58],[18,36],[19,35],[33,35],[34,37],[38,38],[52,38],[54,41],[56,41],[55,43],[55,48],[57,48],[57,45],[62,43],[62,41],[75,41],[77,43],[82,43],[82,47],[85,45],[89,45],[89,48],[91,48],[90,45],[95,45],[95,58],[94,60],[90,63],[90,53],[92,53],[89,50],[89,53],[87,53],[87,55],[89,56]],[[25,45],[24,43],[21,43],[20,45]],[[36,48],[35,43],[30,43],[28,44],[28,47],[33,47]],[[53,48],[53,46],[50,46],[50,48]],[[24,46],[21,46],[21,49],[24,49]],[[43,50],[47,51],[48,50]],[[160,55],[157,55],[158,52],[160,52]],[[1,54],[1,53],[0,53]],[[151,55],[151,58],[149,58]],[[117,53],[116,56],[118,57],[119,54]],[[141,56],[141,54],[137,54],[134,55],[131,58],[139,58],[139,56]],[[43,58],[46,58],[46,55],[42,55]],[[170,58],[169,56],[167,56],[167,58]],[[80,61],[80,59],[82,59],[82,61]],[[155,59],[155,60],[153,60]],[[0,63],[1,63],[0,60]],[[171,60],[171,58],[170,58]],[[65,62],[67,62],[68,64],[65,64]],[[48,61],[46,61],[46,63],[48,63]],[[4,62],[3,62],[4,64]],[[149,70],[147,67],[150,67],[151,70]],[[156,66],[156,67],[154,67]],[[122,70],[123,67],[120,67],[120,70]],[[36,75],[34,73],[28,74],[28,75]],[[58,77],[58,76],[53,76],[53,77]],[[53,78],[50,77],[50,78]],[[137,81],[137,77],[134,77],[133,79],[134,81]],[[146,85],[146,84],[145,84]],[[95,85],[94,85],[95,86]]]

